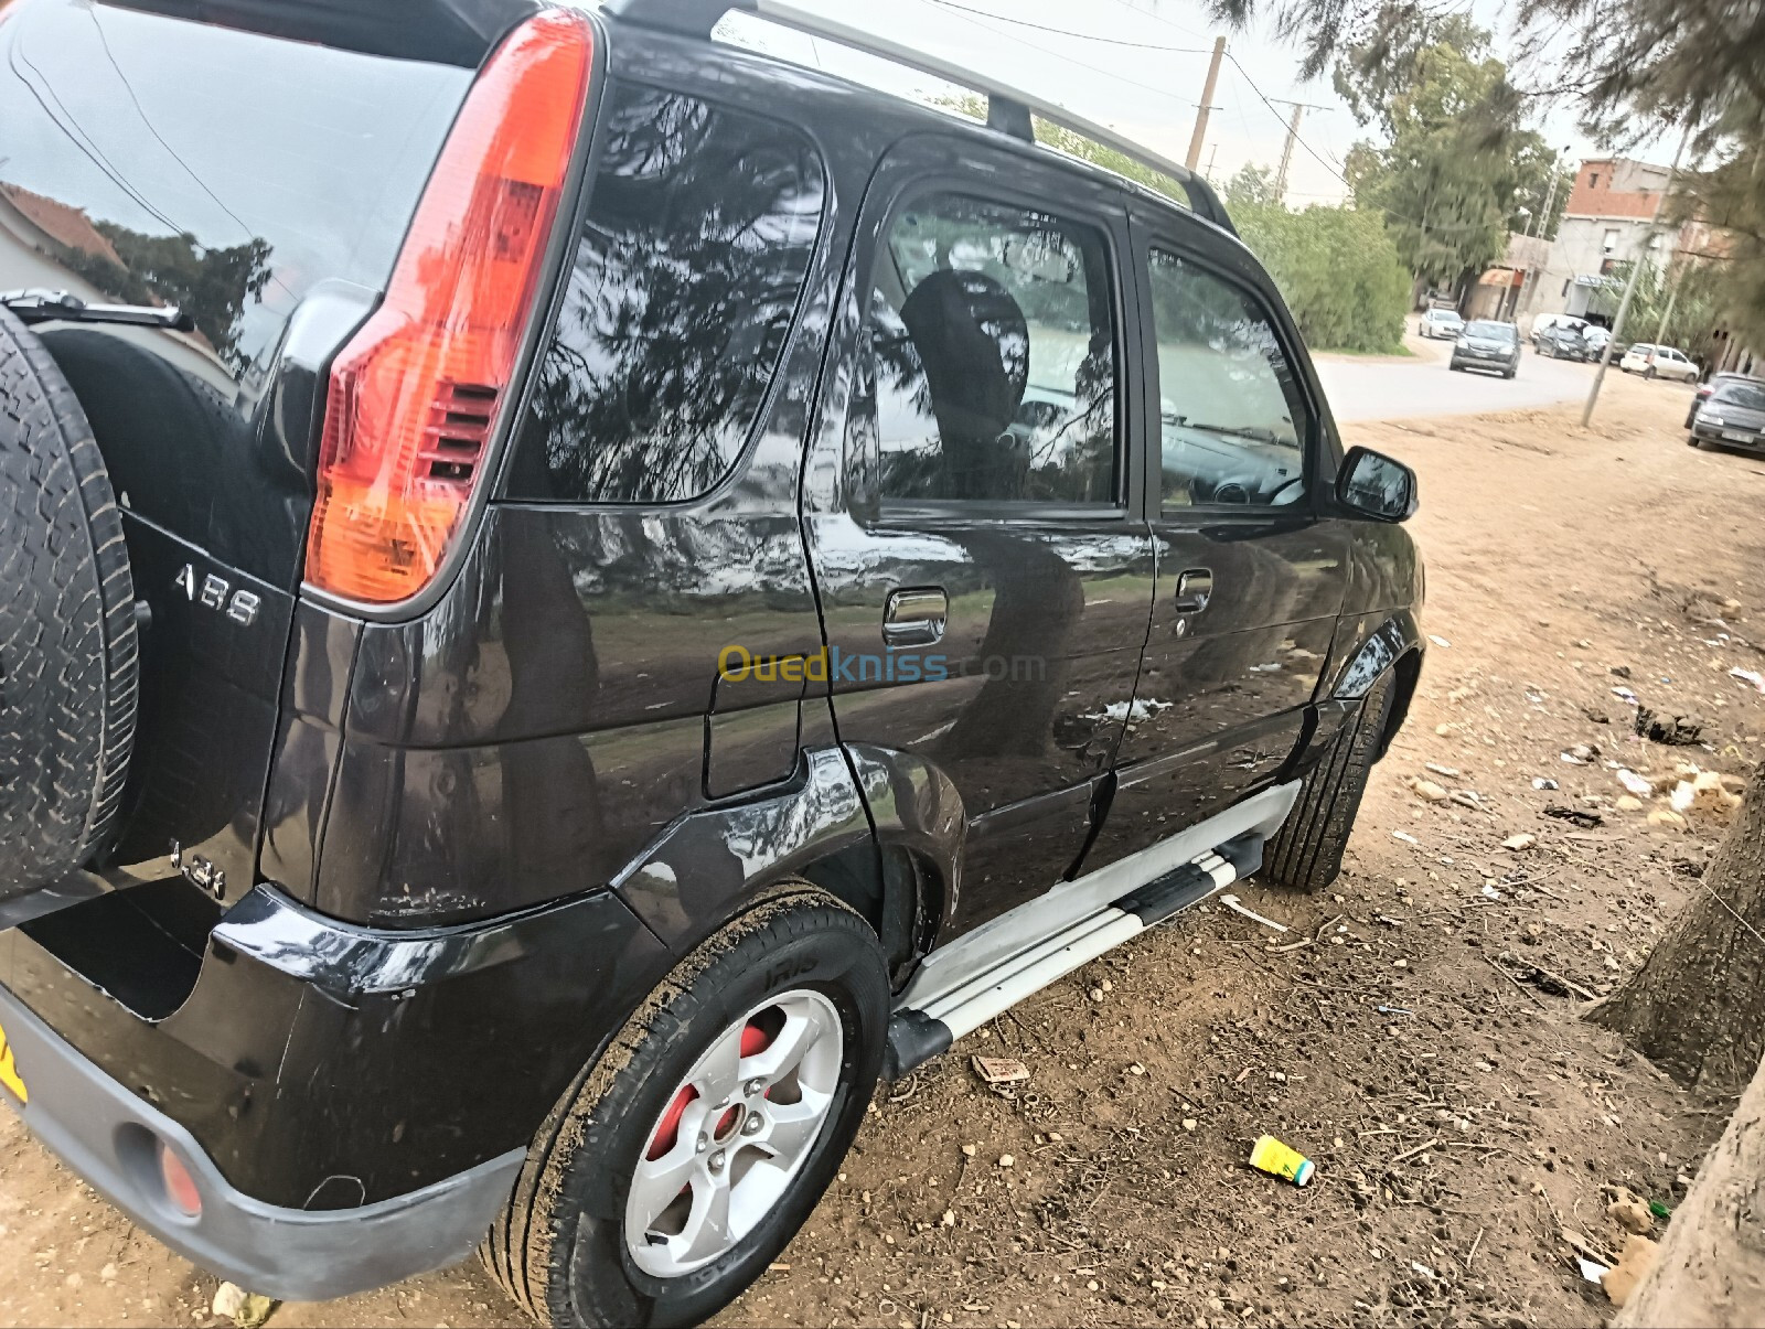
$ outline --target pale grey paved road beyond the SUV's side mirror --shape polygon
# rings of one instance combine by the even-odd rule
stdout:
[[[1550,406],[1587,395],[1596,365],[1546,360],[1527,344],[1513,379],[1454,374],[1446,367],[1451,342],[1408,337],[1414,360],[1320,355],[1324,392],[1338,420],[1405,420],[1419,415],[1477,415]],[[1617,372],[1617,371],[1611,371]],[[1664,392],[1687,392],[1657,385]]]

